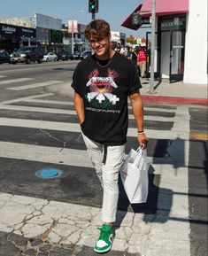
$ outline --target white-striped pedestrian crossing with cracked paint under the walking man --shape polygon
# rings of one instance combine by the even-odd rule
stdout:
[[[25,89],[23,88],[22,90],[24,91]],[[173,167],[174,159],[168,158],[166,160],[166,154],[170,145],[172,145],[174,153],[181,154],[181,144],[175,146],[173,143],[179,136],[180,139],[184,138],[184,148],[189,148],[186,140],[188,137],[187,132],[184,132],[184,128],[188,127],[184,126],[183,123],[183,120],[189,119],[189,114],[185,112],[183,116],[181,113],[184,112],[184,109],[180,107],[168,108],[163,105],[159,107],[145,105],[144,112],[146,112],[145,132],[150,138],[148,155],[151,163],[153,163],[150,169],[150,198],[145,206],[135,206],[135,208],[129,206],[127,198],[122,193],[121,198],[119,198],[119,210],[125,211],[126,215],[123,222],[120,223],[119,230],[124,230],[122,233],[124,241],[126,241],[127,232],[130,229],[134,231],[134,234],[131,234],[130,239],[128,239],[130,242],[124,242],[125,246],[128,246],[129,252],[132,253],[143,252],[142,249],[138,249],[138,243],[143,243],[140,239],[138,241],[138,236],[148,238],[147,240],[150,244],[155,243],[155,234],[159,234],[162,237],[162,234],[165,233],[166,237],[176,239],[178,231],[174,230],[179,227],[177,218],[179,216],[180,218],[187,218],[186,211],[188,207],[187,197],[181,197],[177,193],[174,194],[178,190],[184,194],[188,192],[187,156],[184,157],[184,162],[181,163],[181,166],[177,167],[176,175]],[[162,132],[161,128],[164,129]],[[127,151],[131,147],[137,147],[136,133],[134,117],[132,112],[129,111]],[[35,174],[38,170],[46,167],[58,168],[63,174],[56,179],[41,180]],[[25,228],[21,230],[21,234],[28,237],[38,237],[48,232],[49,242],[58,243],[60,237],[56,237],[54,234],[58,234],[61,228],[58,231],[57,227],[63,225],[66,220],[66,212],[60,212],[60,209],[65,209],[65,206],[69,207],[69,210],[67,210],[69,216],[67,215],[67,221],[65,222],[67,225],[73,226],[73,221],[78,218],[79,214],[74,209],[79,208],[79,213],[86,214],[89,212],[89,215],[93,216],[93,223],[88,217],[90,224],[86,224],[86,220],[83,217],[79,219],[78,226],[81,232],[89,225],[92,225],[90,228],[94,230],[94,226],[100,223],[99,210],[102,202],[102,190],[81,137],[81,128],[73,108],[72,98],[67,100],[66,97],[63,97],[63,100],[60,100],[57,95],[49,93],[19,97],[2,102],[0,104],[0,168],[1,192],[6,197],[13,194],[16,200],[18,200],[17,197],[21,197],[23,201],[34,198],[36,205],[40,206],[42,199],[45,200],[46,207],[42,206],[42,208],[46,212],[40,214],[36,218],[37,220],[33,222],[35,214],[26,213],[31,216],[31,220],[27,220]],[[161,173],[163,173],[162,178]],[[174,182],[168,182],[169,179],[173,179]],[[183,181],[182,186],[179,183],[181,180]],[[159,195],[158,190],[162,191]],[[27,199],[23,196],[27,196]],[[50,211],[50,202],[54,202],[54,205],[51,203],[51,207],[53,206],[53,209],[56,208],[56,211]],[[180,213],[178,212],[178,204],[182,205],[183,209]],[[48,212],[47,206],[49,207]],[[19,216],[17,207],[17,204],[11,207],[11,211],[15,213],[16,218]],[[163,227],[165,228],[163,229],[165,231],[162,230],[164,232],[160,230],[161,222],[157,222],[157,215],[154,215],[158,210],[164,212],[164,219],[162,220],[164,221]],[[27,212],[27,210],[25,211]],[[37,211],[37,208],[35,208],[35,211]],[[135,213],[138,214],[135,215]],[[50,229],[43,229],[41,224],[42,229],[39,226],[37,228],[35,221],[40,220],[40,222],[45,223],[43,215],[44,218],[50,215],[52,220],[57,221],[57,227],[51,226]],[[152,216],[156,216],[155,222],[152,221]],[[168,221],[169,217],[172,221]],[[129,222],[133,223],[132,227],[129,226]],[[8,228],[4,226],[4,223],[0,221],[1,230],[7,232]],[[14,230],[16,223],[11,224],[12,230]],[[31,229],[32,224],[34,225],[33,229]],[[180,224],[180,239],[183,237],[180,243],[189,245],[189,234],[187,232],[189,223],[182,222]],[[126,232],[125,230],[128,231]],[[62,231],[65,234],[65,229],[62,229]],[[89,237],[89,234],[81,233],[81,239],[79,241],[74,240],[74,243],[93,246],[95,236],[93,235],[91,239]],[[162,240],[164,241],[164,239]],[[63,243],[65,241],[63,240]],[[119,236],[116,237],[112,249],[123,251],[123,247],[120,247]],[[175,250],[173,255],[177,252]]]

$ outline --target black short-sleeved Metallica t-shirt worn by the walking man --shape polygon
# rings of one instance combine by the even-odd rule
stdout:
[[[100,144],[125,144],[127,97],[142,88],[131,60],[115,53],[101,66],[95,55],[89,56],[76,67],[72,87],[84,101],[84,135]]]

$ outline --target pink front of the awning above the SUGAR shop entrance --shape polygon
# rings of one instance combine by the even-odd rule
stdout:
[[[189,0],[156,0],[156,16],[189,12]],[[151,0],[144,0],[141,8],[143,17],[151,15]]]

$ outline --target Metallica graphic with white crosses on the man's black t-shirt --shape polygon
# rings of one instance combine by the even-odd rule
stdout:
[[[99,106],[103,105],[103,107],[109,104],[116,105],[119,101],[119,97],[112,94],[112,90],[118,88],[114,81],[118,76],[119,74],[110,68],[107,69],[106,77],[99,76],[97,69],[93,70],[89,74],[89,81],[86,84],[90,91],[87,95],[89,102],[92,103],[96,101],[96,105],[98,103]]]

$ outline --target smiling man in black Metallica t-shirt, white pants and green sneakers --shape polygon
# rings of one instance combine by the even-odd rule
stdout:
[[[95,54],[83,59],[73,74],[74,105],[81,132],[96,174],[104,189],[100,236],[94,250],[112,247],[117,212],[118,176],[127,142],[127,97],[130,97],[138,128],[137,140],[143,149],[148,139],[143,131],[143,101],[138,73],[131,60],[112,50],[109,24],[92,20],[85,36]]]

